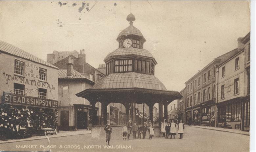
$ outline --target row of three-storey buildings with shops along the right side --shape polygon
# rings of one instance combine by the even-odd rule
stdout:
[[[185,123],[248,131],[249,82],[250,32],[185,82]]]

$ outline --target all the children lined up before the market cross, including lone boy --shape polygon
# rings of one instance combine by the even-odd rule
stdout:
[[[181,120],[180,123],[178,124],[178,134],[180,134],[180,139],[183,138],[184,128],[185,128],[184,124],[182,123],[182,120]],[[106,131],[106,143],[107,145],[109,145],[111,132],[112,132],[110,120],[107,121],[107,124],[105,125],[104,130]],[[145,139],[147,130],[149,131],[149,139],[152,139],[155,133],[154,133],[154,128],[152,126],[151,121],[149,121],[148,124],[144,122],[143,126],[141,124],[139,124],[138,126],[136,122],[133,124],[131,119],[129,119],[129,121],[127,122],[127,125],[125,124],[124,127],[122,128],[123,140],[126,140],[126,137],[129,140],[131,132],[133,132],[133,139],[136,139],[137,132],[138,132],[138,139],[141,139],[141,138]],[[169,135],[171,135],[171,138],[173,136],[173,138],[175,139],[177,130],[176,130],[176,124],[174,123],[174,120],[172,120],[171,123],[170,122],[166,123],[164,119],[163,123],[161,124],[161,132],[163,133],[162,137],[165,137],[166,139],[168,139]],[[141,134],[143,137],[141,136]]]

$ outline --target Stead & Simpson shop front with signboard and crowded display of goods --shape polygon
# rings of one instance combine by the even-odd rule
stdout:
[[[0,113],[1,139],[21,139],[57,132],[58,101],[4,92]]]

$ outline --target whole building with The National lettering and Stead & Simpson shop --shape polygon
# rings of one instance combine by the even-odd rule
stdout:
[[[0,73],[0,138],[31,137],[46,128],[54,131],[58,68],[0,41]]]

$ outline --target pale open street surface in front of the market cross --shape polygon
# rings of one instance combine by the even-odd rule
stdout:
[[[105,137],[105,134],[100,136]],[[120,135],[121,136],[121,135]],[[248,152],[250,137],[244,134],[185,126],[183,139],[155,138],[130,139],[111,138],[106,146],[104,138],[92,139],[91,134],[65,136],[61,138],[1,143],[0,151],[67,151],[67,152]]]

